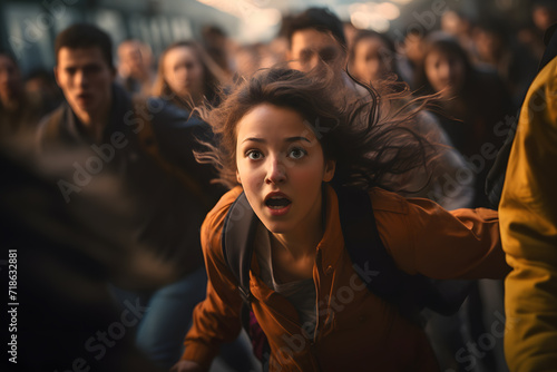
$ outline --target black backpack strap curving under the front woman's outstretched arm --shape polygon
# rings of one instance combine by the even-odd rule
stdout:
[[[410,275],[397,267],[379,236],[367,192],[339,188],[339,214],[346,251],[368,290],[395,304],[412,320],[423,307],[456,313],[468,295],[470,281],[437,281]]]

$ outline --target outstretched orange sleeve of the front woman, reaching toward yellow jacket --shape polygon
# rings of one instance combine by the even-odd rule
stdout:
[[[397,265],[432,278],[502,278],[505,262],[496,211],[446,211],[423,198],[391,197],[375,189],[379,234]]]

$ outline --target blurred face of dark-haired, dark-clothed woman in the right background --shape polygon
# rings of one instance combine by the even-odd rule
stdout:
[[[458,56],[433,49],[426,56],[423,67],[431,87],[443,91],[444,97],[453,97],[462,88],[466,67]]]

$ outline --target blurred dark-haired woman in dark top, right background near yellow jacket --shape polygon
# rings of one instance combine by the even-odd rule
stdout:
[[[483,185],[505,140],[506,116],[511,114],[504,82],[495,72],[475,69],[456,39],[434,32],[427,39],[416,87],[419,94],[439,94],[434,114],[476,175],[473,206],[489,206]]]

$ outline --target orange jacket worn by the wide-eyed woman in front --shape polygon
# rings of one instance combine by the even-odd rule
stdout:
[[[234,340],[241,330],[242,298],[221,246],[224,218],[241,192],[236,187],[225,194],[202,227],[209,283],[206,300],[195,310],[182,359],[204,366],[221,342]],[[326,227],[313,267],[315,337],[304,336],[294,306],[261,281],[254,254],[252,307],[268,337],[270,370],[438,370],[423,331],[370,293],[354,272],[344,249],[336,195],[331,187],[326,193]],[[379,188],[370,197],[380,236],[401,270],[434,278],[501,278],[509,271],[496,212],[447,212],[428,199],[405,199]]]

